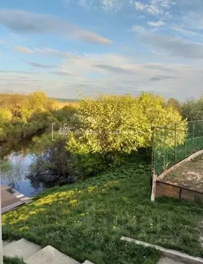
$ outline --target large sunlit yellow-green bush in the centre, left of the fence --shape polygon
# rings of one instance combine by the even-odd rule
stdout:
[[[72,118],[67,149],[78,171],[91,175],[120,163],[123,154],[149,147],[152,126],[181,120],[177,110],[154,94],[85,97]]]

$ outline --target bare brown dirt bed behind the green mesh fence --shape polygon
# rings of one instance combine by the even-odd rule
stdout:
[[[203,193],[203,155],[182,164],[162,181]]]

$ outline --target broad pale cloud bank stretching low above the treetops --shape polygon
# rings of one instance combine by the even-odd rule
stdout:
[[[49,96],[58,97],[60,93],[60,97],[76,98],[77,90],[81,90],[83,95],[94,92],[135,95],[145,90],[184,99],[191,94],[194,80],[194,95],[202,91],[201,65],[196,68],[170,63],[137,64],[130,57],[112,53],[78,55],[47,48],[34,51],[44,56],[63,58],[62,63],[53,71],[48,69],[47,73],[41,74],[23,76],[23,72],[0,71],[0,91],[6,84],[7,89],[18,92],[40,89],[48,92]]]

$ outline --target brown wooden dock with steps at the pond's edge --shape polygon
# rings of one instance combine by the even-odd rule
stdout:
[[[1,214],[15,209],[16,207],[30,202],[28,197],[18,193],[9,186],[0,185],[1,194]]]

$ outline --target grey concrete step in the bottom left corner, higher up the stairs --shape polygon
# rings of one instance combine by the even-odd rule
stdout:
[[[19,256],[26,260],[39,250],[41,250],[41,247],[22,238],[5,245],[3,247],[3,255],[7,257]]]

